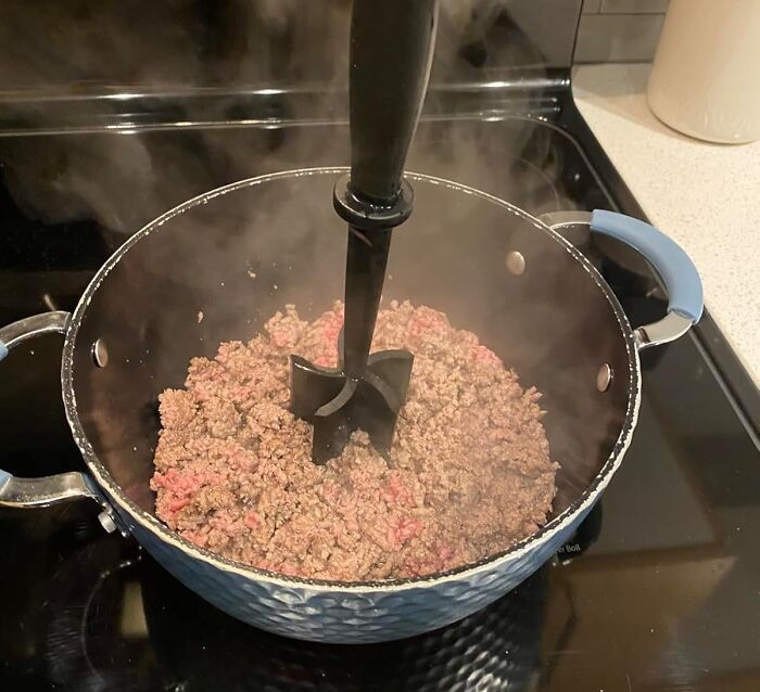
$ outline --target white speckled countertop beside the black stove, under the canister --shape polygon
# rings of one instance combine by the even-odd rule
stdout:
[[[689,254],[705,305],[760,386],[760,141],[680,134],[646,102],[648,64],[573,71],[579,110],[650,221]]]

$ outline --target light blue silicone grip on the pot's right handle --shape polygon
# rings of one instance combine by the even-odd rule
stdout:
[[[699,272],[681,246],[654,226],[623,214],[595,209],[591,230],[638,251],[660,274],[668,291],[668,311],[698,322],[705,297]]]

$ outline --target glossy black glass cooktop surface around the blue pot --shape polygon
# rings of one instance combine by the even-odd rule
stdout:
[[[409,168],[535,215],[641,216],[567,87],[524,116],[426,119]],[[126,228],[237,178],[341,163],[345,139],[324,123],[0,138],[0,322],[72,309]],[[151,178],[125,185],[113,151],[130,166],[155,162]],[[73,177],[88,166],[97,179]],[[46,193],[58,196],[46,205]],[[663,313],[643,262],[587,249],[634,325]],[[87,502],[2,511],[0,689],[760,689],[760,453],[708,341],[697,330],[642,354],[633,444],[557,558],[485,611],[410,640],[352,648],[264,633],[105,535]],[[0,467],[18,475],[84,470],[60,400],[60,346],[40,338],[0,367]]]

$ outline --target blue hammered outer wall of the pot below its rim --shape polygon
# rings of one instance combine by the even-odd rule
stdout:
[[[137,540],[168,572],[206,601],[249,625],[309,641],[371,643],[427,632],[493,603],[533,574],[570,538],[591,507],[529,550],[461,577],[371,588],[362,592],[292,586],[244,576],[200,560],[163,540],[134,517],[123,518]]]

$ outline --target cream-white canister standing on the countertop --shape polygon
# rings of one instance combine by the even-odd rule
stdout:
[[[647,97],[685,134],[760,139],[760,0],[671,0]]]

